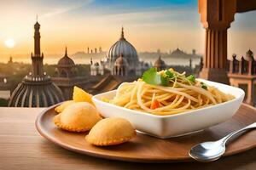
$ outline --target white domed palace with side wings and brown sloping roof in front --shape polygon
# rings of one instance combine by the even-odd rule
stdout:
[[[117,88],[122,82],[135,81],[148,68],[148,63],[139,61],[136,48],[125,39],[122,28],[119,40],[109,48],[106,59],[100,63],[90,59],[90,75],[102,77],[90,88],[90,93],[106,92]]]

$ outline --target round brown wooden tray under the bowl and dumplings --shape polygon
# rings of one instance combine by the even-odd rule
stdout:
[[[241,105],[239,111],[229,121],[209,127],[199,133],[172,139],[157,139],[142,133],[125,144],[108,147],[96,147],[88,144],[86,133],[68,133],[55,127],[52,122],[55,116],[54,107],[43,111],[36,120],[38,132],[49,141],[67,150],[73,150],[89,156],[102,157],[120,161],[163,162],[193,161],[189,157],[190,148],[198,143],[217,140],[250,123],[256,122],[256,109],[249,105]],[[154,126],[154,125],[153,125]],[[224,156],[249,150],[256,146],[256,131],[244,133],[230,143]]]

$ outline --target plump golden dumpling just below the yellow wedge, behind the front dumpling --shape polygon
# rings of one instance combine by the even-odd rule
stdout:
[[[71,132],[85,132],[90,130],[96,122],[101,120],[96,108],[88,102],[77,102],[68,105],[64,111],[54,117],[57,127]]]

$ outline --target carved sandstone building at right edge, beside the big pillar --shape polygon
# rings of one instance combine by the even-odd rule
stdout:
[[[245,91],[244,101],[249,105],[256,106],[256,60],[250,49],[247,51],[246,57],[242,56],[241,60],[236,59],[236,54],[233,54],[228,77],[230,85]]]

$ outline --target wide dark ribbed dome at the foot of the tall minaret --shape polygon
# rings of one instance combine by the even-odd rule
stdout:
[[[26,77],[11,95],[9,107],[49,107],[61,101],[61,89],[49,77]]]

